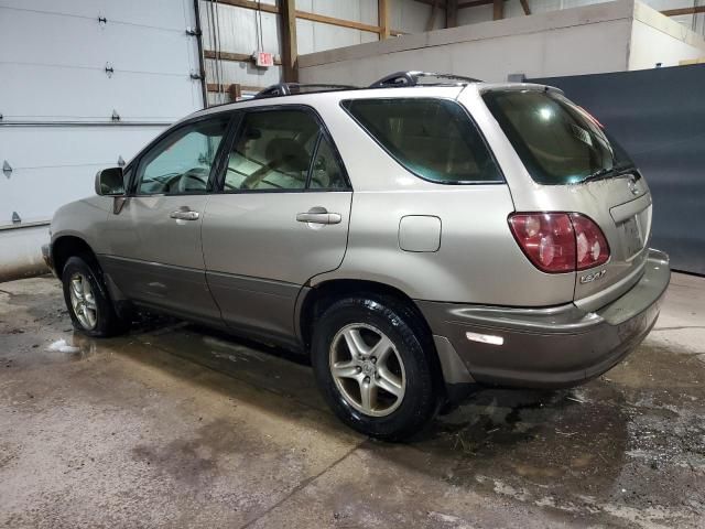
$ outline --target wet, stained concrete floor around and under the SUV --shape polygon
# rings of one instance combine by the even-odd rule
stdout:
[[[285,353],[164,320],[87,339],[56,280],[3,283],[0,525],[705,527],[704,384],[705,280],[674,274],[605,376],[482,390],[390,445]]]

